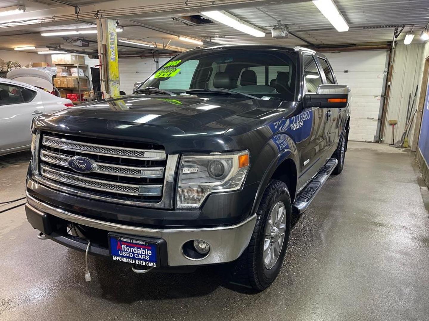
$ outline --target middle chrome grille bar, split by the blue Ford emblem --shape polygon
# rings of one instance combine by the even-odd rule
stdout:
[[[41,160],[67,168],[70,168],[68,164],[70,158],[72,158],[72,156],[47,151],[46,149],[41,149],[40,151]],[[94,163],[97,164],[97,169],[94,170],[95,173],[138,178],[162,178],[164,175],[164,167],[138,167],[99,162]]]

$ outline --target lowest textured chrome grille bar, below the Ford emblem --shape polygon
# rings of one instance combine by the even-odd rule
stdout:
[[[44,164],[40,165],[41,174],[54,181],[60,181],[66,184],[87,187],[94,190],[103,190],[112,193],[120,193],[135,196],[160,196],[162,195],[163,185],[136,185],[124,184],[113,181],[104,181],[96,178],[89,178],[81,175],[70,174],[58,169],[54,169]]]

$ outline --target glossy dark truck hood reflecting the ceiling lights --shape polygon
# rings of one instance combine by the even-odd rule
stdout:
[[[127,95],[39,116],[35,128],[144,141],[176,152],[236,149],[223,134],[277,109],[280,101],[218,95]]]

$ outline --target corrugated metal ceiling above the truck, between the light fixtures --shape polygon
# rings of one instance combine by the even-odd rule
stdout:
[[[428,0],[335,0],[335,3],[350,26],[348,32],[338,33],[311,1],[266,5],[261,6],[260,9],[281,20],[283,24],[290,28],[292,33],[315,45],[387,42],[392,40],[394,28],[363,29],[363,27],[384,24],[414,24],[414,32],[418,35],[429,22]],[[263,28],[268,34],[265,38],[255,38],[218,23],[194,27],[186,26],[180,22],[173,21],[171,17],[142,18],[141,20],[154,27],[195,38],[211,39],[213,42],[222,44],[253,42],[305,45],[305,42],[293,36],[285,40],[272,39],[269,31],[276,24],[276,21],[256,8],[234,9],[230,10],[230,13]],[[410,31],[411,28],[411,26],[407,26],[398,39],[402,40],[406,32]],[[416,41],[418,41],[417,38],[415,38]]]

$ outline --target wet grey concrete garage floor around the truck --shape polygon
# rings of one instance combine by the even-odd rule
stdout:
[[[138,275],[40,241],[24,208],[0,214],[0,320],[429,320],[429,219],[413,157],[350,142],[258,294],[218,267]],[[0,158],[0,202],[24,195],[27,153]],[[17,203],[19,204],[19,203]],[[8,205],[10,206],[10,205]],[[0,211],[6,206],[0,206]]]

